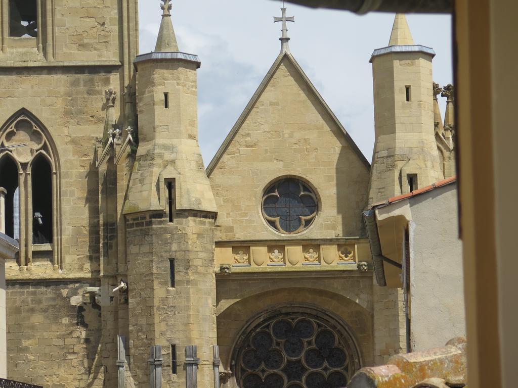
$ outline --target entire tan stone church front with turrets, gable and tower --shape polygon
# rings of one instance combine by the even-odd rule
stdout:
[[[136,0],[33,3],[0,2],[2,225],[20,245],[8,378],[339,388],[407,351],[363,210],[453,175],[454,128],[404,16],[371,58],[372,167],[290,51],[283,8],[281,51],[205,168],[201,63],[170,0],[140,55]]]

